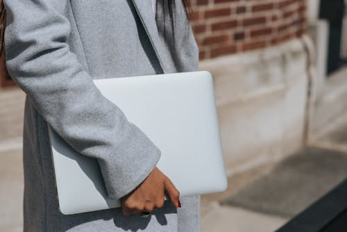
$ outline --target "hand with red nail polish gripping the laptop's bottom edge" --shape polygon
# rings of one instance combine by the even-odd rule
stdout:
[[[122,212],[129,216],[141,211],[151,212],[164,205],[164,193],[171,203],[180,207],[180,192],[158,167],[155,167],[147,178],[135,190],[121,199]]]

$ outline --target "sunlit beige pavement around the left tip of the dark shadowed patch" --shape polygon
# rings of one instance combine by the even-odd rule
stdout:
[[[273,164],[255,167],[228,178],[228,190],[201,197],[201,232],[271,232],[288,221],[287,217],[260,213],[251,208],[221,204],[228,197],[252,185],[260,176],[271,173]]]

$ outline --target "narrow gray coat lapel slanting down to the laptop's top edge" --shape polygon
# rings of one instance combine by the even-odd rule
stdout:
[[[133,1],[137,15],[141,20],[144,30],[146,31],[149,40],[153,46],[155,54],[158,57],[160,66],[164,73],[176,72],[174,61],[172,60],[171,54],[168,47],[162,40],[158,33],[156,26],[155,17],[153,15],[152,2],[151,0],[131,0]]]

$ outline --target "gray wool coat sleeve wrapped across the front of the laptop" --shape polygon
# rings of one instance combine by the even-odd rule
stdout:
[[[69,0],[5,0],[10,76],[50,126],[80,154],[99,161],[105,187],[119,199],[146,179],[160,150],[105,99],[69,50]]]

